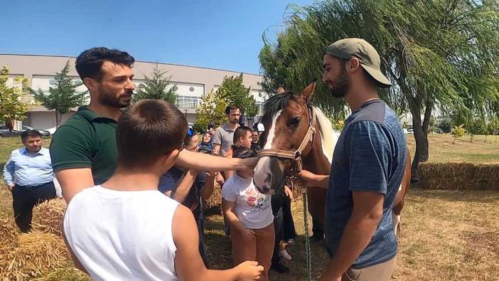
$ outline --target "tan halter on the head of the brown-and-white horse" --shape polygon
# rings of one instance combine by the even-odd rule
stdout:
[[[312,143],[315,140],[316,134],[316,112],[313,110],[312,106],[307,102],[308,108],[308,129],[306,131],[304,139],[301,141],[300,146],[295,151],[281,150],[281,149],[262,149],[258,153],[258,157],[279,157],[284,159],[292,159],[295,161],[296,169],[294,173],[300,172],[303,169],[303,162],[301,160],[302,153],[308,142]]]

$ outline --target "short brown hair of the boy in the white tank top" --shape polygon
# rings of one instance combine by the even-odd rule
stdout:
[[[118,164],[149,166],[182,146],[187,120],[165,100],[141,100],[125,110],[116,127]]]

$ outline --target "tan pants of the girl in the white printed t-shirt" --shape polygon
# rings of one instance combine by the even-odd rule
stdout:
[[[247,241],[242,238],[241,233],[230,228],[230,240],[232,240],[232,255],[234,265],[239,265],[246,260],[256,260],[264,267],[259,280],[269,280],[270,260],[274,252],[274,223],[269,226],[254,229],[255,238]]]

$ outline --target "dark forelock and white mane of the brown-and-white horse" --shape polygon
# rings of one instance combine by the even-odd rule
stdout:
[[[298,97],[294,92],[284,92],[282,94],[273,95],[265,101],[262,110],[262,122],[269,124],[272,118],[279,110],[284,109],[288,104],[291,97]],[[333,130],[331,121],[324,115],[322,110],[318,107],[312,107],[316,112],[316,119],[318,122],[319,132],[322,140],[322,151],[324,156],[328,159],[329,163],[333,160],[334,147],[338,141],[339,134]]]

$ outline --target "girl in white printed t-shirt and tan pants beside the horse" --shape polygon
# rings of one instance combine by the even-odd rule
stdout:
[[[247,147],[237,147],[232,154],[241,159],[256,156]],[[274,250],[274,216],[270,195],[258,192],[252,176],[252,171],[237,171],[225,182],[222,209],[230,222],[234,263],[256,260],[264,267],[260,280],[268,280]]]

